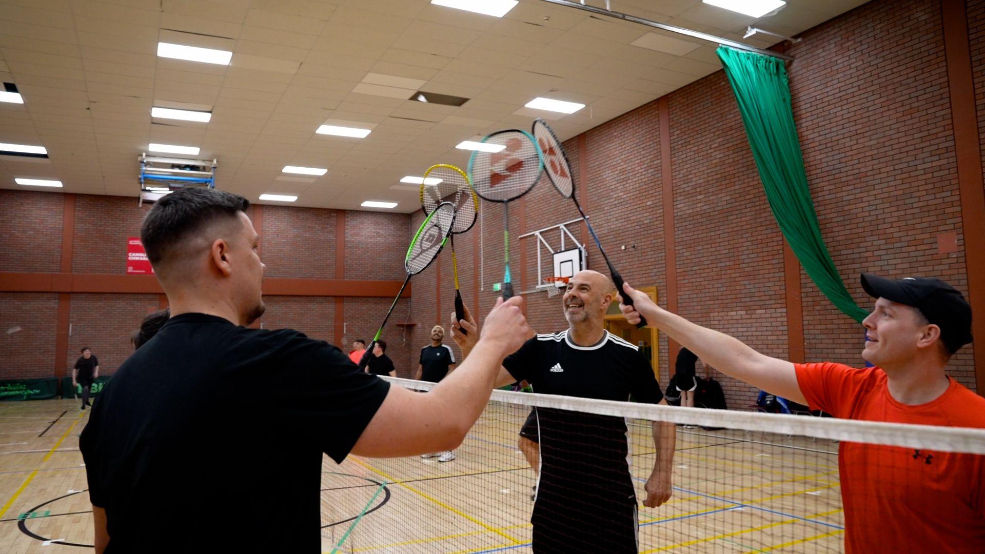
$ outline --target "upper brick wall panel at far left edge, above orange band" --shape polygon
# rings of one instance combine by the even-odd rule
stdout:
[[[0,190],[0,271],[58,271],[63,200],[61,194]]]

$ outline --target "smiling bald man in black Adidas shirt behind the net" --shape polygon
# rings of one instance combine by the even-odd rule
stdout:
[[[566,330],[539,334],[507,356],[496,386],[526,380],[534,392],[666,404],[649,362],[636,346],[603,326],[615,287],[597,271],[580,271],[562,299]],[[475,321],[454,321],[464,356],[479,334]],[[463,334],[462,329],[468,331]],[[629,473],[624,418],[536,408],[541,470],[531,523],[534,552],[637,552],[636,495]],[[671,496],[674,424],[654,423],[653,471],[644,506]]]

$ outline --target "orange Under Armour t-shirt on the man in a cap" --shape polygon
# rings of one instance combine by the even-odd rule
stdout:
[[[835,417],[985,428],[985,398],[952,380],[937,399],[900,404],[886,373],[796,364],[813,409]],[[985,552],[985,456],[841,443],[845,551]]]

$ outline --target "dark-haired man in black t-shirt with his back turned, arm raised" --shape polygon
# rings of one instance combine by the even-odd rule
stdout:
[[[341,462],[455,448],[523,343],[521,303],[498,302],[474,359],[414,394],[324,341],[248,328],[264,311],[248,208],[242,196],[185,188],[144,221],[171,316],[100,392],[80,438],[97,554],[314,552],[323,453]],[[438,409],[447,405],[457,409]],[[189,510],[203,506],[229,509],[210,510],[209,532],[189,539]]]

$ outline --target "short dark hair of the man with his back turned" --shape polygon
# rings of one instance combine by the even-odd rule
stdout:
[[[140,242],[151,263],[157,264],[188,234],[247,208],[249,200],[231,192],[205,187],[175,190],[151,208],[140,230]]]

